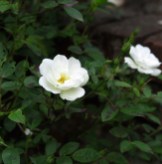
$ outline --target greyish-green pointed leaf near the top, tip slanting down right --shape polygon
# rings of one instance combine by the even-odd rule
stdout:
[[[83,22],[83,16],[77,9],[73,7],[64,7],[64,10],[70,17]]]

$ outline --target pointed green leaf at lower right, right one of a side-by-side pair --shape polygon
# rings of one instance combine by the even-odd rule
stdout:
[[[150,146],[142,141],[133,141],[132,144],[143,152],[152,153]]]

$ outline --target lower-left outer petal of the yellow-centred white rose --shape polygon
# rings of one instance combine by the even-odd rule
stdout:
[[[50,84],[43,76],[39,79],[39,85],[41,85],[45,90],[52,92],[53,94],[60,93],[60,90]]]

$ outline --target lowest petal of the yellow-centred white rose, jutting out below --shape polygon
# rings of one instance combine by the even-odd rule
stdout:
[[[84,96],[85,90],[83,88],[72,88],[67,91],[63,91],[60,97],[65,100],[74,101],[77,98]]]

